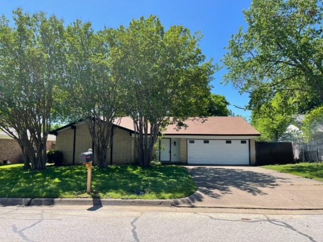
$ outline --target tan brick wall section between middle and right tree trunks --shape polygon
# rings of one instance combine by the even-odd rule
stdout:
[[[129,164],[134,162],[133,140],[129,131],[117,129],[113,137],[112,164]]]

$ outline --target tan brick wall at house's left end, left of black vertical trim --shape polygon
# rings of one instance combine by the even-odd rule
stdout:
[[[55,149],[63,152],[63,164],[73,164],[73,140],[74,130],[71,128],[60,131],[56,136]]]

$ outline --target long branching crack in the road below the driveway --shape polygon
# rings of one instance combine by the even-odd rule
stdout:
[[[279,221],[277,219],[271,219],[270,217],[268,217],[267,215],[263,214],[263,216],[266,217],[266,219],[257,219],[257,220],[246,220],[246,219],[241,219],[241,220],[236,220],[236,219],[222,219],[222,218],[214,218],[210,215],[206,215],[206,214],[200,214],[200,213],[196,213],[194,212],[194,214],[200,215],[200,216],[205,216],[208,217],[210,219],[213,220],[218,220],[218,221],[229,221],[229,222],[243,222],[243,223],[257,223],[257,222],[268,222],[277,226],[283,226],[285,228],[291,229],[294,232],[297,232],[298,234],[307,237],[311,242],[317,242],[313,237],[311,237],[310,235],[303,233],[301,231],[298,231],[296,228],[294,228],[292,225],[286,223],[286,222],[282,222]],[[281,224],[279,224],[281,223]]]

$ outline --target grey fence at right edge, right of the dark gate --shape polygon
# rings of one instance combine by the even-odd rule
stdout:
[[[293,143],[294,160],[297,162],[323,161],[323,139],[308,143]]]

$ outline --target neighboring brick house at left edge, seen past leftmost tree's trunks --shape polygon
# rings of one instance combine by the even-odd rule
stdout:
[[[46,142],[47,150],[54,149],[55,144],[56,136],[48,135]],[[18,142],[0,130],[0,164],[16,164],[20,162],[22,162],[22,151]]]

